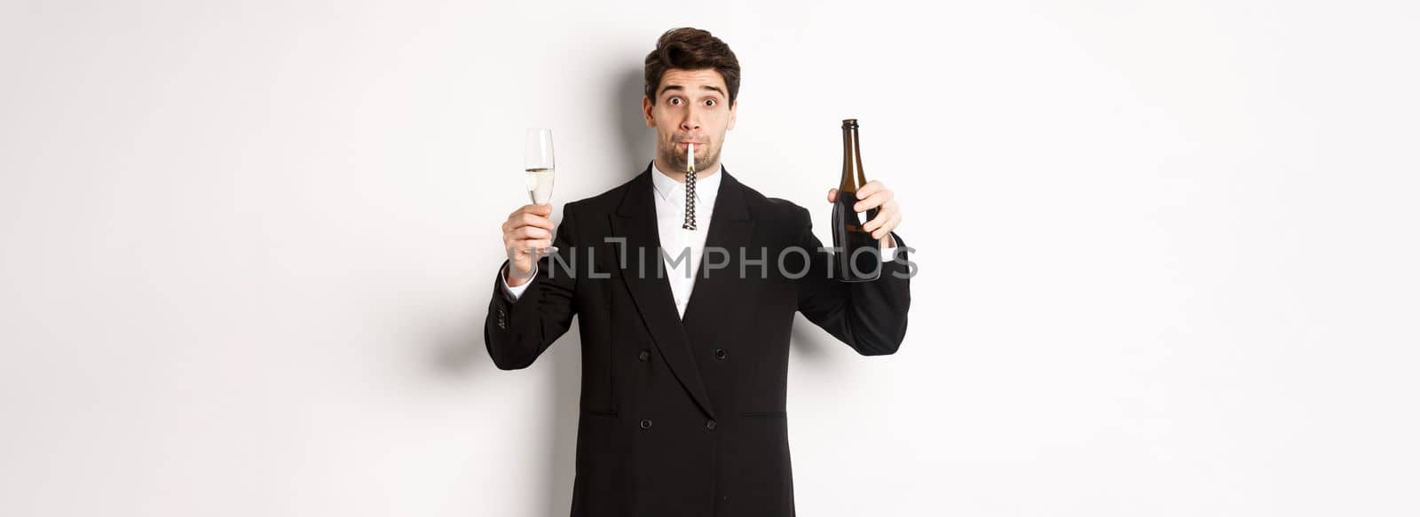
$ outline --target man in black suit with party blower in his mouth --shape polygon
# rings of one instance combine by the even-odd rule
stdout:
[[[503,223],[510,260],[484,327],[494,364],[531,365],[581,315],[572,516],[792,516],[784,392],[794,312],[862,355],[896,352],[907,330],[910,263],[892,233],[902,220],[892,190],[870,182],[858,192],[858,210],[879,210],[863,224],[882,243],[878,280],[832,278],[809,212],[720,165],[738,89],[723,41],[667,31],[646,57],[655,160],[568,203],[558,227],[535,205]],[[534,257],[547,246],[559,251]]]

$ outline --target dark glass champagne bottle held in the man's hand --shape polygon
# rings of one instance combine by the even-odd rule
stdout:
[[[834,203],[834,276],[842,281],[872,281],[882,274],[882,254],[878,239],[863,230],[863,223],[878,216],[878,209],[859,214],[853,212],[858,203],[858,189],[868,185],[863,176],[863,158],[858,151],[858,119],[843,121],[843,176],[838,183],[838,202]]]

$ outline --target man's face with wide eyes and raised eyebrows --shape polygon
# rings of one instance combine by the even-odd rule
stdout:
[[[738,99],[714,68],[672,68],[660,75],[656,102],[642,98],[646,126],[656,128],[656,162],[666,172],[686,170],[686,143],[696,143],[696,170],[720,165],[724,132],[734,129]]]

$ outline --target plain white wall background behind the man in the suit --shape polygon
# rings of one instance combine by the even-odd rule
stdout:
[[[1420,513],[1420,9],[924,6],[0,3],[0,513],[565,516],[498,223],[525,126],[558,205],[645,168],[679,26],[731,173],[826,240],[856,116],[917,249],[899,354],[798,321],[799,514]]]

